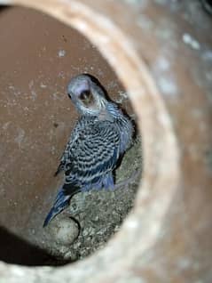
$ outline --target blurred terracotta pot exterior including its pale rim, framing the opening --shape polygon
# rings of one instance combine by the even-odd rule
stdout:
[[[212,39],[208,16],[192,1],[0,3],[46,12],[98,46],[130,93],[145,160],[134,209],[105,248],[57,269],[1,263],[1,281],[209,282]],[[201,18],[193,16],[193,7]]]

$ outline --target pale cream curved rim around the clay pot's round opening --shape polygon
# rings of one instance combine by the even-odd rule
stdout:
[[[112,21],[74,0],[71,3],[55,1],[52,5],[48,4],[49,2],[25,3],[24,0],[20,0],[19,3],[47,12],[67,25],[75,27],[98,46],[130,93],[140,130],[142,125],[145,160],[142,190],[138,190],[133,211],[124,221],[116,237],[110,240],[105,248],[73,266],[60,267],[54,272],[48,272],[52,269],[30,269],[31,279],[37,279],[39,272],[41,281],[46,278],[53,280],[56,277],[61,281],[68,279],[74,282],[76,279],[90,278],[99,281],[107,278],[108,271],[111,278],[116,279],[122,273],[123,267],[125,271],[130,271],[131,264],[136,263],[137,258],[142,257],[145,251],[153,247],[177,188],[177,143],[169,114],[144,61],[137,56],[127,36],[123,35]],[[169,176],[161,165],[169,167]],[[22,278],[28,279],[29,270],[26,267],[9,268],[8,278],[16,279],[18,272]]]

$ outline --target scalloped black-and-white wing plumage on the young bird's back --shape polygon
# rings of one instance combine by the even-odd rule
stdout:
[[[99,122],[84,128],[69,149],[65,187],[89,184],[111,172],[119,158],[120,133],[113,123]]]

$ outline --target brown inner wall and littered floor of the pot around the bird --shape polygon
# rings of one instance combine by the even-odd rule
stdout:
[[[135,115],[114,70],[75,29],[20,7],[4,9],[0,27],[0,259],[23,265],[74,262],[104,247],[120,230],[133,206],[141,154],[137,133],[115,171],[119,188],[76,194],[69,208],[43,229],[63,182],[62,175],[53,174],[77,119],[67,83],[76,74],[90,73],[132,120]]]

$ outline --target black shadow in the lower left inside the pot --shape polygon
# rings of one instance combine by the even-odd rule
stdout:
[[[27,266],[59,266],[65,264],[3,227],[0,227],[0,261]]]

